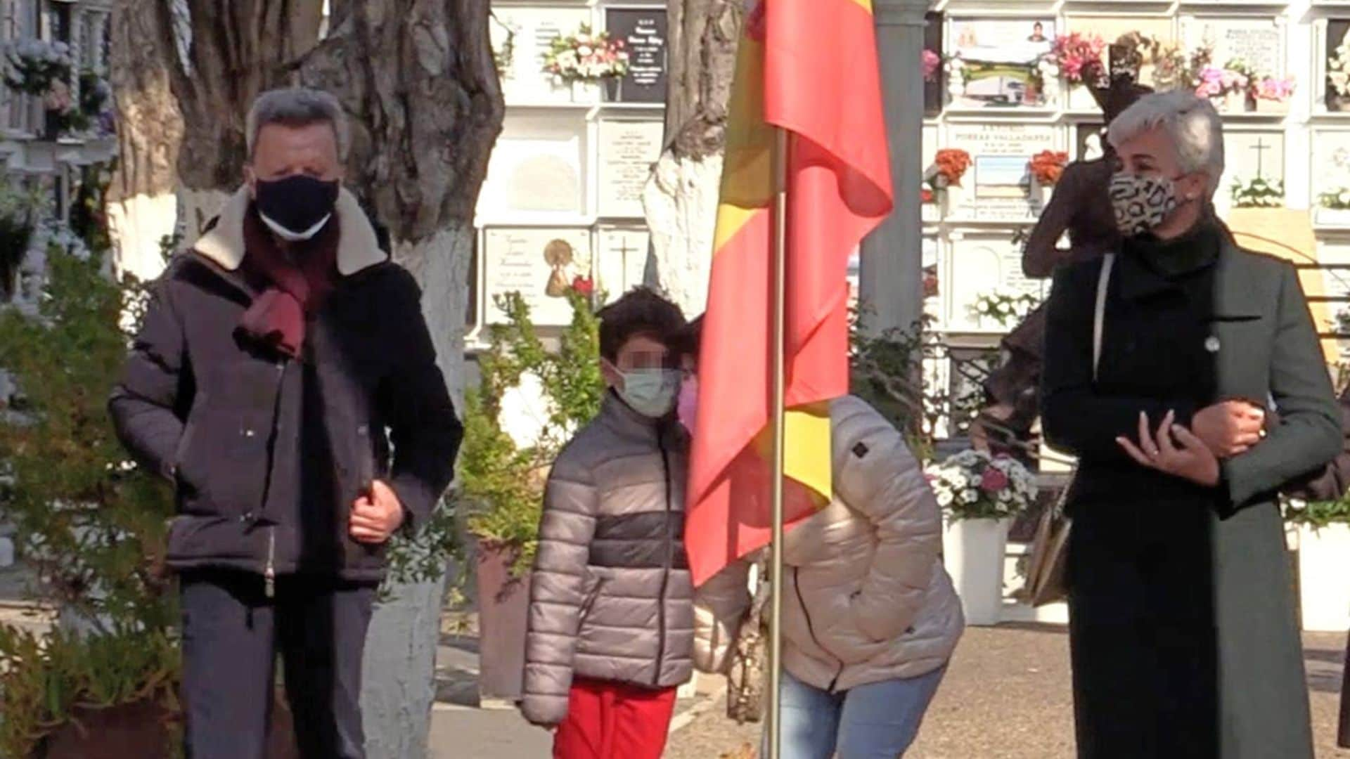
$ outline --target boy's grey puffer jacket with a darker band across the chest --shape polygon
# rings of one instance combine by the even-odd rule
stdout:
[[[674,687],[693,674],[688,436],[613,393],[554,462],[529,587],[521,710],[567,716],[572,677]]]

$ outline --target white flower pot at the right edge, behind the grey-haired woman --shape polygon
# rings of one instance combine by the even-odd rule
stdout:
[[[1303,629],[1350,629],[1350,525],[1299,527]]]

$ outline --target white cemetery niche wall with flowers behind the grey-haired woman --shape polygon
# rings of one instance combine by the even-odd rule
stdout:
[[[1322,327],[1334,332],[1341,311],[1350,327],[1350,3],[948,0],[926,23],[926,170],[915,181],[937,258],[933,328],[948,344],[996,351],[1017,321],[991,311],[1048,296],[1049,282],[1022,274],[1022,240],[1054,194],[1046,166],[1103,155],[1084,63],[1107,63],[1112,46],[1142,84],[1185,88],[1219,109],[1220,215],[1307,209],[1316,253],[1299,255],[1324,269]],[[933,371],[953,404],[957,374]]]

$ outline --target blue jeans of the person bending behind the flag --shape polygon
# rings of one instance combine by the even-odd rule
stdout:
[[[946,667],[842,693],[783,673],[783,759],[896,759],[914,743]],[[767,740],[765,740],[767,743]],[[767,745],[760,751],[768,756]]]

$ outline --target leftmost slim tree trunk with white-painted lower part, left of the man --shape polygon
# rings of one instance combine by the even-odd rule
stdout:
[[[117,108],[117,170],[108,188],[115,265],[148,280],[162,269],[159,240],[174,231],[182,115],[158,34],[162,0],[124,0],[112,14],[109,82]]]

